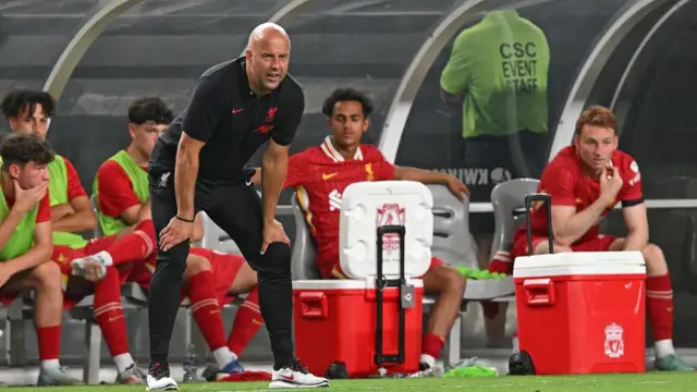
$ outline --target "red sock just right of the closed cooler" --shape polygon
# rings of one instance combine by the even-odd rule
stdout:
[[[646,307],[653,329],[653,340],[673,339],[673,287],[671,277],[648,277]]]

